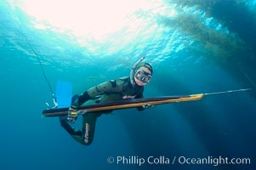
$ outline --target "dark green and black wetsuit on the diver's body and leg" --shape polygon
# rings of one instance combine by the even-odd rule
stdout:
[[[86,105],[93,103],[102,103],[102,102],[112,102],[122,99],[139,99],[143,98],[143,86],[133,87],[129,77],[122,77],[116,80],[111,80],[108,82],[103,82],[94,88],[89,88],[82,95],[78,97],[77,100],[72,103],[72,105],[83,105],[85,102]],[[100,99],[99,99],[100,95]],[[143,108],[139,107],[139,111],[142,111]],[[65,122],[65,120],[60,120],[61,126],[71,134],[71,136],[77,140],[77,142],[85,145],[89,145],[93,142],[94,139],[94,129],[96,120],[102,114],[108,114],[111,111],[107,112],[88,112],[82,116],[82,131],[74,130],[70,124]]]

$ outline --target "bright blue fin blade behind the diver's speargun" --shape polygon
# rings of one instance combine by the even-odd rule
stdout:
[[[56,100],[58,108],[69,107],[72,98],[71,82],[57,82]]]

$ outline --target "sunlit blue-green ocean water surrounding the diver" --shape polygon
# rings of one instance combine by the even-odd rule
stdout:
[[[0,2],[1,169],[255,169],[256,1],[139,2],[143,8],[127,10],[122,22],[108,20],[119,3],[88,3],[97,16],[71,13],[82,9],[63,2],[41,6],[45,15],[54,10],[52,18],[73,17],[68,26],[79,33],[39,20],[23,1]],[[82,94],[128,76],[141,56],[154,68],[145,98],[252,89],[114,111],[100,116],[89,146],[71,139],[58,118],[42,116],[45,102],[53,104],[37,57],[54,92],[67,81]]]

